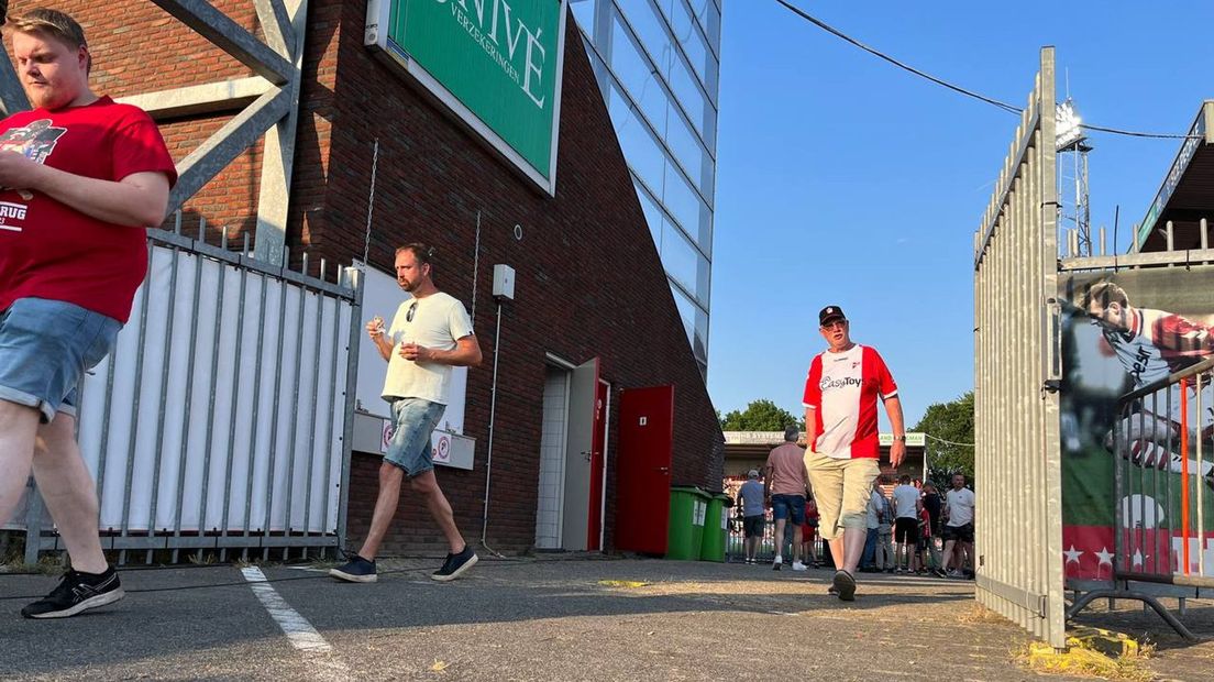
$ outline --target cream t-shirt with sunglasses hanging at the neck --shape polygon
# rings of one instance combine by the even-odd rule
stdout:
[[[413,320],[409,308],[416,306]],[[407,299],[396,311],[387,335],[392,340],[392,354],[387,360],[384,379],[384,399],[421,398],[447,404],[452,365],[416,363],[401,357],[402,343],[418,343],[426,348],[450,351],[455,342],[472,334],[472,322],[464,303],[442,291],[425,299]]]

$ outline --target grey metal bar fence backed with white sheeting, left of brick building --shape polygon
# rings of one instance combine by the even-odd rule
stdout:
[[[345,536],[361,336],[356,268],[319,275],[148,231],[149,267],[113,353],[85,377],[79,442],[118,563],[248,558]],[[288,260],[289,262],[289,260]],[[59,549],[33,483],[25,561]]]

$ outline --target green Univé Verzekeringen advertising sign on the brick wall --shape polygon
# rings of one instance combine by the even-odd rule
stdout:
[[[365,44],[554,193],[565,16],[566,0],[371,0]]]

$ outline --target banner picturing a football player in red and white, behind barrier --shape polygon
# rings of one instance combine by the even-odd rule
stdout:
[[[1119,568],[1214,575],[1210,374],[1133,394],[1214,358],[1214,267],[1059,279],[1066,576],[1112,578],[1118,507]]]

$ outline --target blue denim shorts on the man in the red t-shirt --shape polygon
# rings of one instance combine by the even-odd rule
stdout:
[[[117,319],[63,301],[18,299],[0,312],[0,399],[38,409],[42,424],[75,416],[76,386],[114,348]]]

